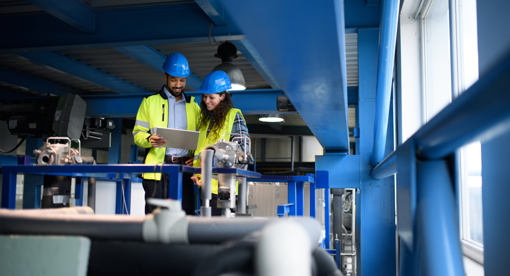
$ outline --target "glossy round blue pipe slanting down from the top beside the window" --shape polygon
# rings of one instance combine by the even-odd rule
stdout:
[[[384,0],[381,6],[379,30],[379,62],[377,63],[377,96],[375,102],[374,147],[372,166],[384,159],[388,116],[390,113],[391,83],[397,41],[399,0]]]

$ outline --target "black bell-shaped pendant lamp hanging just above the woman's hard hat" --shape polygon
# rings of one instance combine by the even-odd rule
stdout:
[[[221,64],[214,67],[213,71],[223,71],[228,75],[232,83],[231,90],[244,90],[246,84],[244,82],[243,72],[236,65],[232,64],[232,60],[237,58],[237,48],[230,41],[223,42],[218,46],[218,53],[214,54],[215,57],[221,59]]]

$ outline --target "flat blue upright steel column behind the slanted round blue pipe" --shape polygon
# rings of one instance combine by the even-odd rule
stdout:
[[[395,275],[395,191],[394,178],[374,180],[370,173],[374,141],[376,72],[379,29],[358,30],[360,195],[356,196],[358,274]],[[391,131],[393,137],[393,131]],[[388,139],[390,142],[391,139]],[[387,143],[392,152],[393,142]]]

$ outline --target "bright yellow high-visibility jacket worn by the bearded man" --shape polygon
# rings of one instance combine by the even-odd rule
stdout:
[[[187,96],[183,92],[186,101],[186,118],[188,121],[187,130],[197,131],[198,114],[200,107],[195,103],[194,98]],[[157,164],[165,161],[165,147],[152,147],[149,137],[154,134],[156,128],[168,128],[168,97],[164,88],[153,95],[149,95],[142,100],[142,104],[136,115],[135,128],[133,136],[135,144],[150,148],[143,160],[144,164]],[[192,155],[192,153],[190,153]],[[144,173],[144,179],[161,179],[161,173]]]

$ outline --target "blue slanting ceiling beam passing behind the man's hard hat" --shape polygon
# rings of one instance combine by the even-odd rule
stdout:
[[[114,47],[114,49],[160,74],[165,73],[162,67],[166,60],[165,55],[156,51],[156,49],[151,46],[123,46]],[[200,85],[202,85],[202,80],[194,74],[190,74],[190,76],[186,78],[186,87],[196,91]]]

